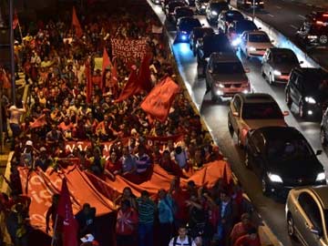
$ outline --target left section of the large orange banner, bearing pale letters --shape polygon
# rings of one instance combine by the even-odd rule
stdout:
[[[22,188],[25,195],[31,198],[29,216],[34,228],[46,231],[46,210],[51,206],[52,196],[60,193],[62,180],[67,178],[70,199],[74,214],[84,203],[90,203],[97,209],[97,216],[114,210],[113,203],[101,195],[87,179],[85,172],[75,167],[63,169],[60,173],[54,169],[34,171],[19,168]]]

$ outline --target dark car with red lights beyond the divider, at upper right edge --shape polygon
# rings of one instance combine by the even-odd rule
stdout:
[[[328,12],[313,12],[307,15],[296,37],[306,46],[328,45]]]

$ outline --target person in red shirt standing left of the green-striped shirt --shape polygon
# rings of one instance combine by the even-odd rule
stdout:
[[[129,200],[122,200],[116,224],[117,246],[135,245],[137,224],[138,212],[131,208]]]

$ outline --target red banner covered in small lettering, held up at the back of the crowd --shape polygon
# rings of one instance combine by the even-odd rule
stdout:
[[[120,57],[125,61],[128,61],[128,59],[136,60],[138,57],[142,58],[146,54],[147,42],[145,38],[112,38],[110,42],[112,46],[112,55],[114,57]]]

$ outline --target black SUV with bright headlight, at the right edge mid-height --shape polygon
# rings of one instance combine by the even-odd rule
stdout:
[[[322,116],[328,101],[328,73],[322,68],[293,68],[285,98],[288,107],[296,104],[301,118]]]

